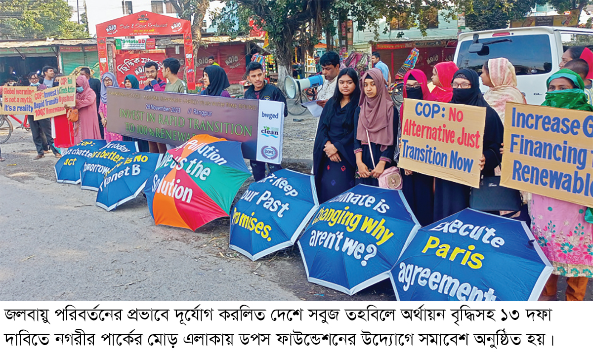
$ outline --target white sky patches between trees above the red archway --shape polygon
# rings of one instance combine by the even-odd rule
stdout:
[[[87,2],[88,31],[91,34],[91,37],[94,37],[96,34],[95,25],[125,16],[122,9],[122,0],[78,0],[81,14],[84,12],[84,7],[82,5],[84,1]],[[76,21],[76,0],[68,0],[68,3],[74,10],[72,19]],[[204,18],[208,27],[212,24],[211,12],[222,6],[223,4],[220,1],[213,1],[210,3],[208,13],[206,13],[206,17]],[[151,10],[151,0],[132,0],[133,13]],[[164,3],[162,4],[162,11],[163,15],[178,17],[177,13],[168,14],[167,7]]]

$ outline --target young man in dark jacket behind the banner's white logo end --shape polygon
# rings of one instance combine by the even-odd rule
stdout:
[[[286,105],[286,97],[280,89],[276,86],[267,85],[264,79],[262,64],[258,62],[251,62],[247,65],[247,79],[251,82],[251,86],[245,92],[244,98],[248,100],[264,100],[276,101],[284,103],[284,116],[288,116],[288,107]],[[250,160],[251,171],[253,171],[253,178],[260,181],[266,177],[266,162],[258,162],[253,159]],[[267,163],[270,169],[270,174],[282,169],[279,164]]]

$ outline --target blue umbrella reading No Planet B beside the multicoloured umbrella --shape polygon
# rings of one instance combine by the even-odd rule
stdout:
[[[158,153],[136,152],[117,163],[99,185],[97,206],[111,211],[136,198],[161,159],[162,155]]]

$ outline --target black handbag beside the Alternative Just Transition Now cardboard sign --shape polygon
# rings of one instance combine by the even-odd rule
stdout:
[[[496,158],[498,160],[498,156]],[[500,166],[500,161],[497,162]],[[500,176],[482,176],[480,188],[471,188],[470,208],[474,210],[519,211],[521,203],[521,192],[501,187]]]

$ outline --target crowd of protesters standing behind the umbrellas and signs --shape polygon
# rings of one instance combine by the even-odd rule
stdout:
[[[318,104],[323,107],[323,113],[318,120],[313,147],[313,174],[320,203],[356,184],[378,186],[380,176],[397,166],[403,104],[396,106],[391,99],[387,88],[391,75],[387,65],[381,62],[380,54],[373,53],[371,59],[374,68],[359,77],[354,69],[340,70],[340,59],[334,52],[315,57],[316,70],[326,80],[318,92]],[[206,86],[201,94],[231,97],[225,70],[213,57],[208,63],[200,80]],[[177,59],[165,59],[162,63],[164,79],[161,79],[157,75],[158,64],[147,62],[144,89],[186,93],[185,82],[177,77],[179,69]],[[284,115],[288,116],[285,95],[275,85],[266,82],[262,65],[250,62],[246,71],[251,86],[244,98],[284,102]],[[28,76],[30,85],[37,89],[57,85],[54,68],[46,66],[42,73],[42,78],[31,73]],[[515,68],[504,57],[486,60],[481,79],[489,88],[484,95],[480,92],[480,75],[476,71],[458,69],[453,62],[441,62],[433,68],[432,91],[425,73],[409,70],[404,76],[403,97],[486,108],[479,167],[483,176],[500,175],[505,105],[507,102],[525,104],[526,101],[517,88]],[[585,47],[571,47],[562,56],[560,70],[547,80],[546,100],[542,105],[593,111],[592,79],[593,53]],[[134,75],[127,75],[124,82],[117,82],[113,73],[106,72],[99,81],[91,78],[87,68],[81,70],[81,75],[76,78],[75,106],[79,120],[75,143],[83,139],[132,140],[138,142],[141,152],[156,153],[164,153],[173,147],[109,131],[107,87],[120,84],[128,89],[139,89],[139,81]],[[49,149],[59,158],[58,150],[53,147],[49,121],[28,118],[38,153],[35,159],[43,158]],[[272,163],[266,166],[259,161],[250,161],[250,165],[256,181],[266,176],[266,169],[273,173],[282,168]],[[403,169],[400,172],[403,194],[422,226],[470,206],[471,188],[467,185]],[[523,217],[528,217],[535,239],[554,267],[540,300],[556,299],[559,277],[568,277],[566,300],[583,300],[588,278],[593,277],[591,209],[527,192],[522,193],[522,201],[527,204],[528,213]],[[500,214],[505,213],[505,210],[500,211]],[[571,236],[575,229],[582,236]],[[568,256],[567,248],[570,249]]]

